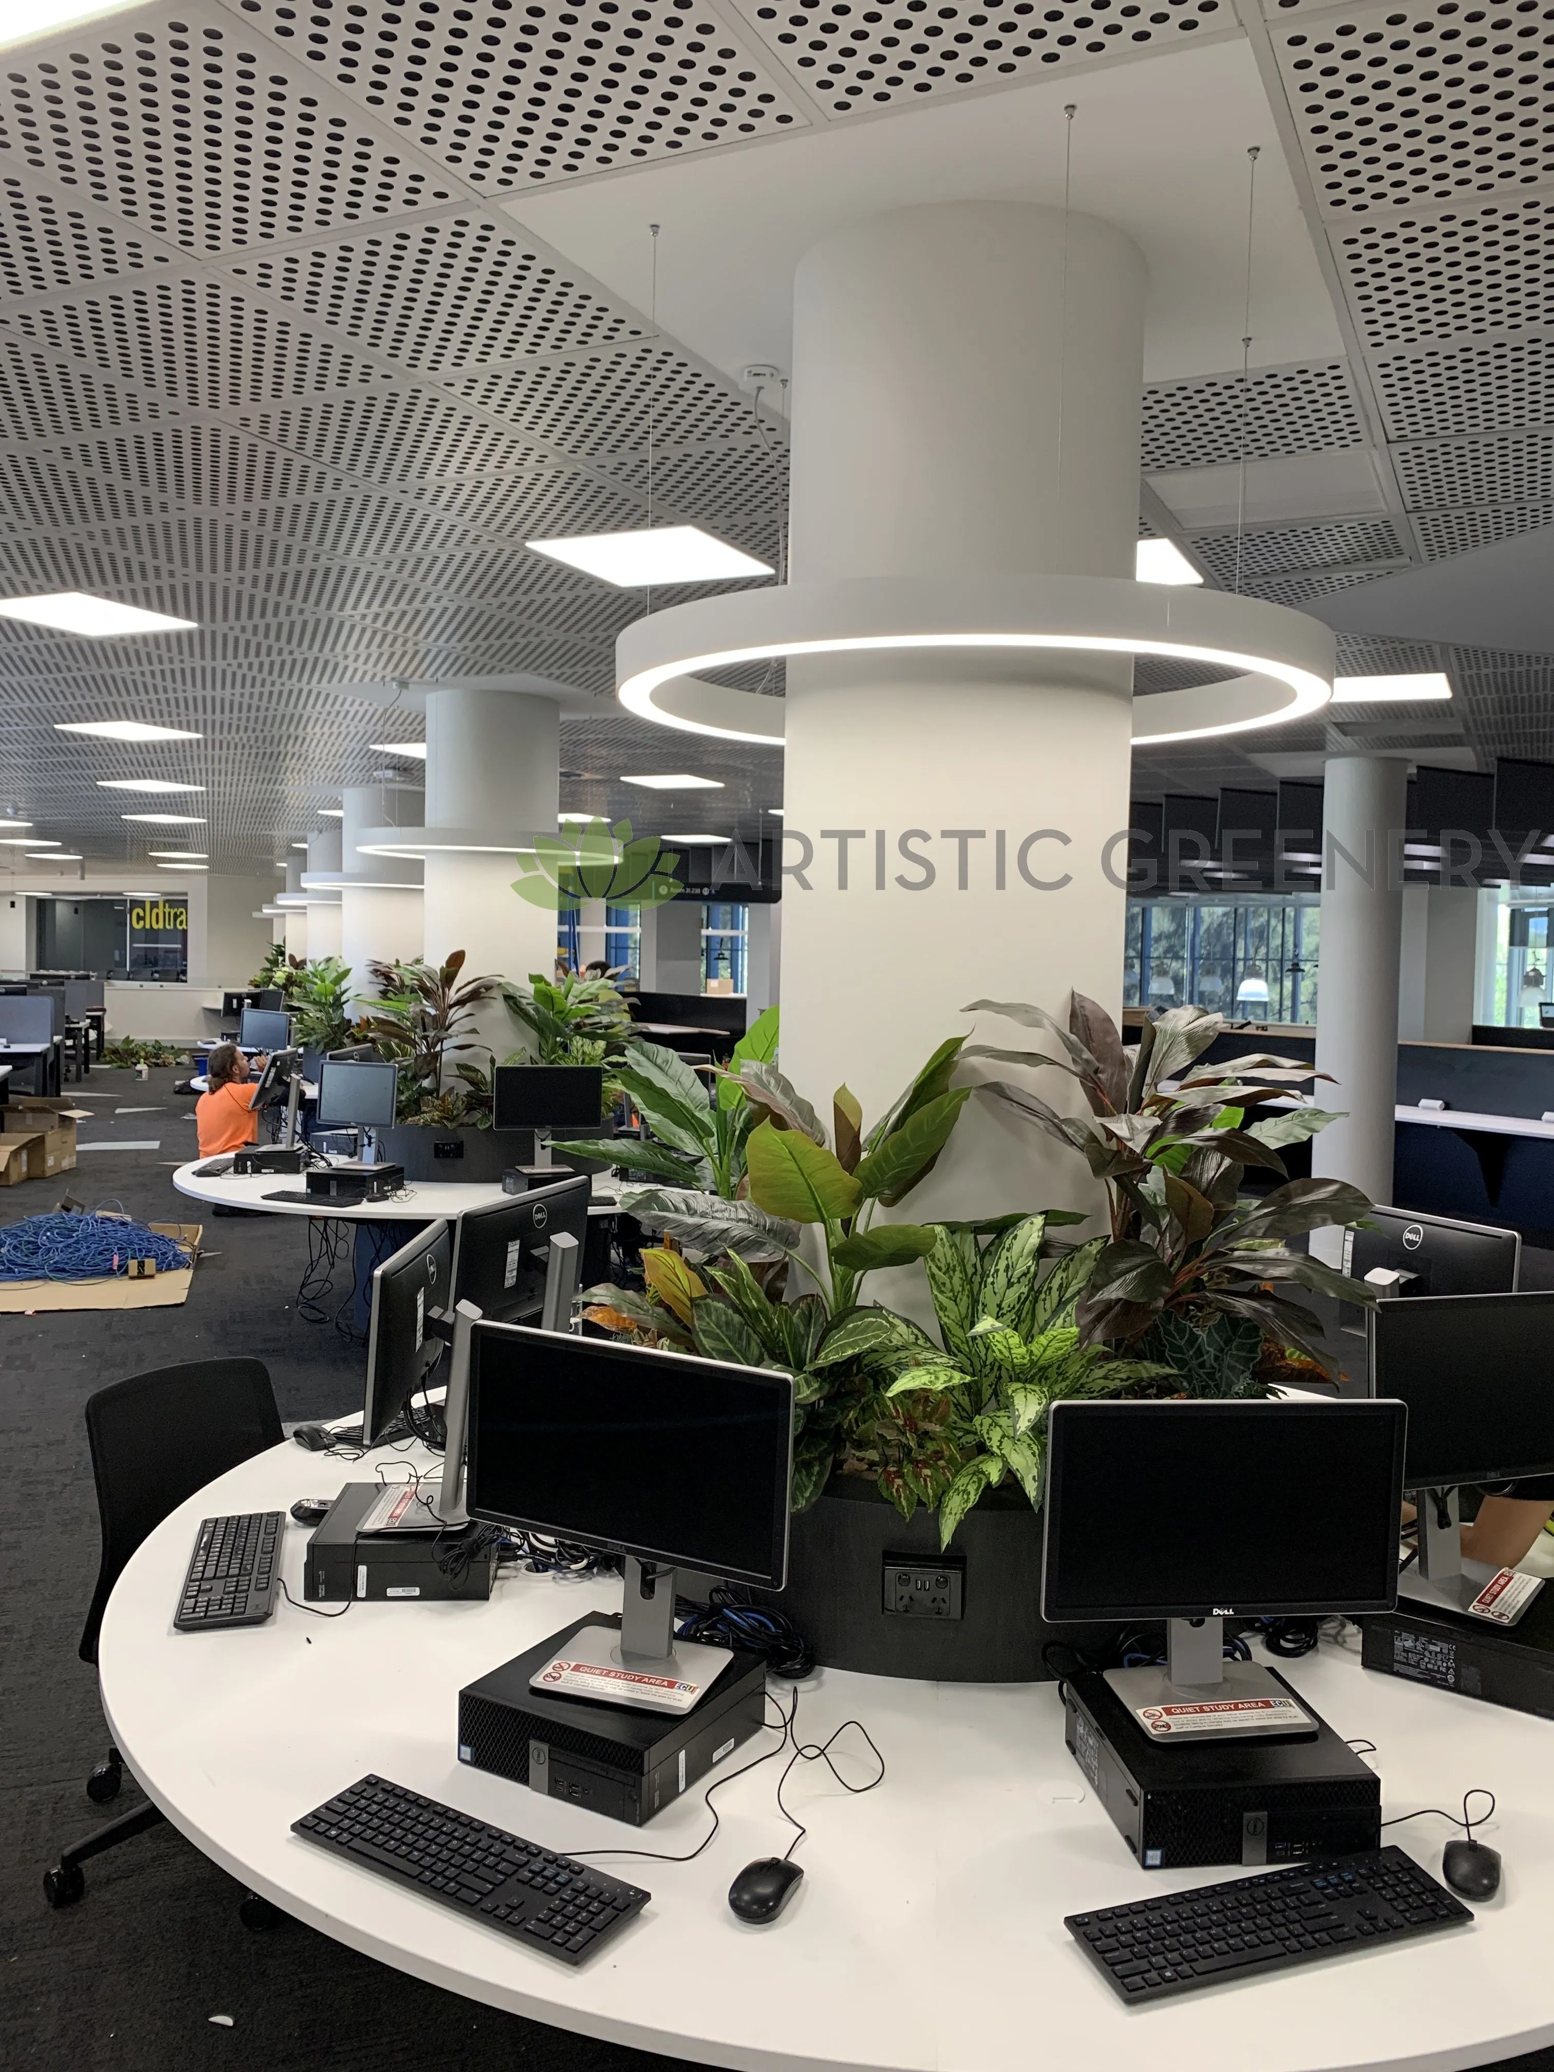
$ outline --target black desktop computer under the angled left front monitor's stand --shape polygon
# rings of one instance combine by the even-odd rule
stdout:
[[[620,1624],[620,1614],[591,1612],[466,1685],[458,1693],[458,1759],[642,1828],[760,1732],[767,1664],[760,1656],[736,1653],[700,1705],[686,1714],[632,1711],[528,1689],[528,1678],[578,1629],[611,1624]]]

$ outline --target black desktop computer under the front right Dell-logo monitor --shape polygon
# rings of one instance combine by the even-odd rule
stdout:
[[[1146,1871],[1280,1865],[1380,1846],[1382,1780],[1322,1720],[1316,1740],[1160,1747],[1104,1676],[1084,1670],[1063,1693],[1069,1755]]]

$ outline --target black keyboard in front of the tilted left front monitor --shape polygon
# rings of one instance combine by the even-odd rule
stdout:
[[[292,1821],[292,1834],[564,1964],[593,1956],[653,1898],[640,1886],[624,1886],[387,1778],[363,1778]]]

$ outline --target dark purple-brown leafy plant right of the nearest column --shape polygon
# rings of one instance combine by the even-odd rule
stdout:
[[[1127,1345],[1169,1363],[1189,1394],[1266,1392],[1266,1345],[1293,1347],[1322,1363],[1318,1318],[1291,1287],[1347,1301],[1372,1291],[1345,1278],[1287,1237],[1357,1222],[1368,1198],[1339,1179],[1289,1179],[1278,1148],[1316,1135],[1336,1117],[1283,1106],[1301,1082],[1328,1077],[1299,1059],[1247,1053],[1200,1065],[1225,1028],[1202,1007],[1173,1007],[1140,1032],[1129,1057],[1111,1015],[1073,995],[1069,1028],[1042,1007],[974,1001],[968,1013],[1003,1015],[1057,1040],[1059,1055],[972,1044],[966,1057],[1051,1065],[1069,1073],[1090,1117],[1061,1115],[1040,1094],[1007,1082],[980,1092],[1080,1152],[1104,1181],[1111,1239],[1077,1301],[1084,1345]],[[1247,1200],[1247,1167],[1283,1185]]]

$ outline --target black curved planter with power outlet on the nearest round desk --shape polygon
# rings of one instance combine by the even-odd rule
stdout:
[[[1051,1643],[1109,1651],[1117,1627],[1048,1627],[1042,1618],[1042,1521],[1019,1490],[992,1490],[970,1510],[949,1556],[961,1581],[959,1618],[885,1610],[887,1558],[939,1556],[939,1519],[908,1525],[870,1481],[833,1477],[792,1521],[787,1589],[756,1591],[794,1620],[816,1662],[868,1676],[941,1682],[1051,1682]],[[959,1571],[963,1562],[963,1575]]]

